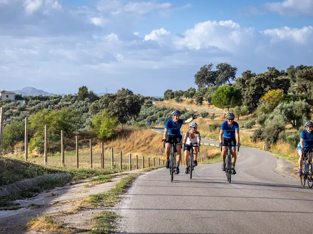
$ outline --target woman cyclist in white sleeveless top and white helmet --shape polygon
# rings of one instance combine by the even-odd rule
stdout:
[[[192,144],[198,144],[198,147],[200,147],[200,141],[201,141],[201,136],[200,133],[197,131],[198,129],[198,124],[195,122],[191,122],[189,124],[190,130],[188,132],[185,133],[185,137],[184,137],[184,143],[183,143],[183,147],[185,149],[185,163],[186,163],[186,170],[185,170],[185,174],[188,174],[188,170],[189,170],[189,154],[190,154],[190,143]],[[198,156],[198,149],[197,147],[193,147],[193,153],[195,154],[195,166],[198,165],[197,162],[197,156]]]

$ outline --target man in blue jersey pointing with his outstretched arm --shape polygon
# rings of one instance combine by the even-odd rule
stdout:
[[[191,118],[185,120],[185,119],[180,119],[180,111],[179,110],[173,110],[172,113],[172,119],[169,119],[165,123],[165,129],[164,129],[164,137],[162,142],[166,143],[165,146],[165,156],[167,158],[166,160],[166,168],[170,168],[170,149],[171,149],[171,144],[170,142],[172,139],[175,140],[175,145],[176,145],[176,150],[177,150],[177,166],[176,166],[176,174],[179,174],[179,163],[182,157],[182,134],[180,133],[180,128],[182,127],[182,124],[189,124],[192,122],[192,120],[198,118],[198,114],[193,115]]]

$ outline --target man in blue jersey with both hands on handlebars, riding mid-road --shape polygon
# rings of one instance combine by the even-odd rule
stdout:
[[[236,140],[238,142],[238,146],[240,147],[239,143],[239,124],[234,121],[235,115],[233,113],[227,113],[226,121],[223,122],[220,129],[219,134],[219,147],[222,147],[222,171],[225,171],[225,159],[226,159],[226,152],[227,152],[227,144],[230,143],[232,145],[236,145]],[[236,164],[236,146],[232,146],[232,173],[236,174],[235,171],[235,164]]]

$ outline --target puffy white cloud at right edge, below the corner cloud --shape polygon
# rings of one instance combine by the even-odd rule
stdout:
[[[296,43],[303,44],[308,40],[313,39],[313,27],[303,27],[303,28],[290,28],[290,27],[282,27],[275,29],[264,30],[261,33],[265,35],[269,35],[272,37],[271,42],[279,42],[284,40],[291,40]],[[309,39],[310,38],[310,39]]]

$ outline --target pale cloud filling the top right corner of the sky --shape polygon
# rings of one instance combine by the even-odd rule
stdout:
[[[265,6],[273,12],[286,16],[313,16],[313,0],[285,0],[283,2],[267,2]]]

